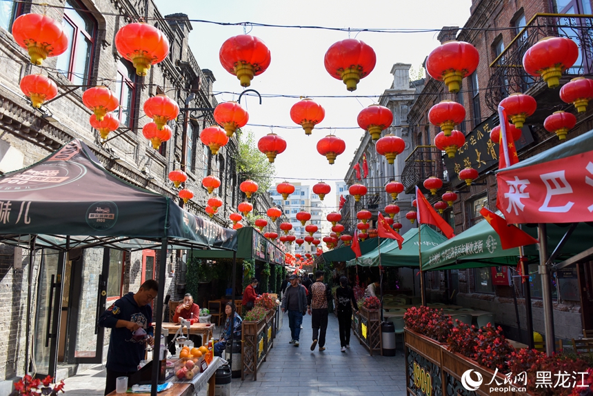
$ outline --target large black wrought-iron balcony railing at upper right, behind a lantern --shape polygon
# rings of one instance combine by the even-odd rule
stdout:
[[[494,72],[485,92],[486,104],[496,112],[500,101],[514,92],[525,92],[537,81],[523,69],[523,55],[544,37],[568,37],[580,50],[579,59],[565,71],[566,77],[593,72],[593,15],[536,14],[509,43],[490,68]]]

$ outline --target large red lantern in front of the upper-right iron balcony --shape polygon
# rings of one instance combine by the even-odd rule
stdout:
[[[566,37],[544,37],[523,55],[523,68],[530,75],[543,77],[548,88],[560,85],[562,73],[579,59],[579,46]]]

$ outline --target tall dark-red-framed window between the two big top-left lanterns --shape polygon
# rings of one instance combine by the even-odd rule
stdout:
[[[97,21],[77,1],[66,0],[63,29],[68,36],[68,50],[58,56],[56,68],[74,85],[87,85]]]

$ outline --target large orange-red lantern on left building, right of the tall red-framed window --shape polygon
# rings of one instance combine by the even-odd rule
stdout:
[[[132,62],[137,75],[145,76],[150,66],[169,55],[169,40],[148,23],[129,23],[115,34],[115,48],[119,55]]]

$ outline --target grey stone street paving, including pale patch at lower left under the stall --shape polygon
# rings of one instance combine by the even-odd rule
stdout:
[[[301,330],[301,346],[288,344],[290,328],[288,316],[274,348],[259,368],[257,381],[252,376],[232,380],[233,396],[404,396],[405,368],[401,337],[397,339],[396,357],[370,356],[352,334],[350,349],[340,352],[338,321],[330,314],[325,350],[319,352],[311,346],[311,317],[305,316]],[[86,370],[81,375],[66,379],[66,395],[103,395],[105,371],[101,368]],[[199,396],[205,396],[205,389]]]

